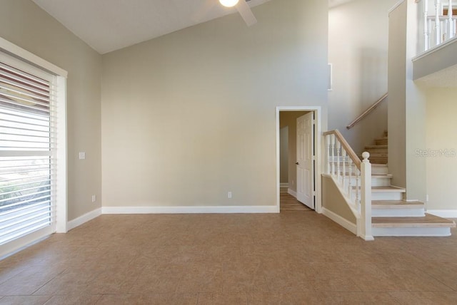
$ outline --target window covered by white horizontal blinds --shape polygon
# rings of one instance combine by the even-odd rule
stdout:
[[[0,61],[0,245],[54,222],[52,81]]]

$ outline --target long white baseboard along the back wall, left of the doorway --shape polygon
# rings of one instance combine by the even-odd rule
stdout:
[[[101,207],[101,214],[224,214],[278,213],[276,205],[212,207]]]

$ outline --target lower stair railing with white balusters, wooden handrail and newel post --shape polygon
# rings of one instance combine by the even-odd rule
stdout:
[[[357,236],[372,240],[371,163],[369,153],[361,161],[338,130],[323,133],[326,145],[325,174],[333,178],[357,219]]]

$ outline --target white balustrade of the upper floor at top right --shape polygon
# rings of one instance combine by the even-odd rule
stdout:
[[[416,0],[421,5],[423,50],[448,41],[456,36],[457,4],[452,0]],[[419,53],[421,53],[421,51]]]

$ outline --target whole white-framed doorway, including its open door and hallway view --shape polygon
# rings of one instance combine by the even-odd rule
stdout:
[[[279,211],[282,199],[301,202],[303,207],[321,213],[320,134],[319,106],[276,108],[276,204]]]

